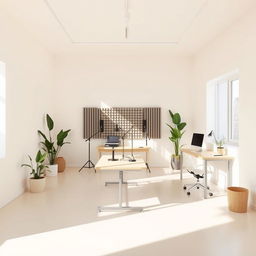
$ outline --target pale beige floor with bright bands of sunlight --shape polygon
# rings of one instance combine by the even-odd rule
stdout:
[[[139,182],[125,190],[144,212],[97,212],[117,203],[117,186],[104,186],[115,172],[68,169],[49,177],[44,193],[0,209],[0,255],[256,255],[255,212],[229,212],[225,196],[204,200],[195,190],[187,197],[168,169],[125,177]]]

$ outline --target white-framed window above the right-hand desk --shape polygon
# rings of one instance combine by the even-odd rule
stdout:
[[[212,80],[207,88],[207,126],[226,143],[239,141],[239,79],[232,73]]]

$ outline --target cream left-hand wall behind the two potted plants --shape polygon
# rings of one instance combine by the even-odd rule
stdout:
[[[6,155],[0,159],[0,207],[25,189],[20,165],[38,150],[37,129],[52,107],[52,60],[31,35],[0,13],[0,61],[6,63]]]

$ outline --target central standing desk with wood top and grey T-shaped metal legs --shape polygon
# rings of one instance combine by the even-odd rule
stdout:
[[[146,170],[147,166],[143,159],[136,158],[136,162],[129,162],[127,159],[121,160],[121,157],[119,157],[120,160],[118,161],[109,161],[109,156],[104,155],[100,158],[100,160],[95,165],[96,170],[114,170],[119,172],[119,180],[118,182],[105,182],[105,185],[108,184],[118,184],[118,206],[117,207],[99,207],[99,211],[142,211],[142,207],[130,207],[123,206],[123,195],[122,195],[122,185],[127,184],[127,182],[124,181],[123,172],[124,171],[138,171],[138,170]],[[130,183],[129,183],[130,184]]]

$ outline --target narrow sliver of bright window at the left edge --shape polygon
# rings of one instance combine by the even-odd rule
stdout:
[[[5,64],[0,62],[0,158],[5,156]]]

